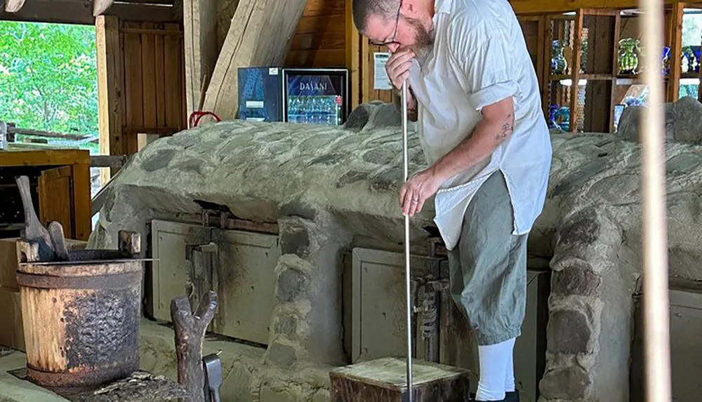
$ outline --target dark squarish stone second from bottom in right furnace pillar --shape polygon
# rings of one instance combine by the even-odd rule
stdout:
[[[551,311],[548,319],[548,350],[552,353],[585,354],[591,352],[592,328],[581,311]]]

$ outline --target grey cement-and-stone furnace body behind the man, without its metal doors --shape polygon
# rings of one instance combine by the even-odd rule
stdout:
[[[116,247],[119,229],[146,241],[150,220],[197,214],[195,200],[225,205],[241,219],[279,222],[288,246],[276,269],[263,359],[291,375],[303,362],[342,364],[338,253],[357,237],[377,248],[404,239],[402,133],[373,121],[381,113],[392,115],[388,105],[362,105],[347,129],[226,121],[162,138],[110,182],[89,246]],[[531,257],[553,271],[542,401],[628,401],[622,384],[642,255],[641,148],[628,138],[552,135],[548,199],[529,239]],[[670,272],[700,280],[702,147],[668,138]],[[409,145],[414,172],[425,161],[413,130]],[[432,202],[425,205],[412,222],[413,244],[431,230]],[[301,285],[290,293],[289,282]]]

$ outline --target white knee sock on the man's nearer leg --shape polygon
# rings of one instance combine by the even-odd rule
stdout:
[[[514,346],[515,338],[478,346],[480,380],[476,401],[502,401],[505,398],[505,372]]]

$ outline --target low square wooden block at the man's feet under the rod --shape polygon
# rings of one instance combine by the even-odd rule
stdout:
[[[414,360],[412,401],[467,402],[469,371]],[[333,402],[402,402],[408,399],[406,360],[395,357],[365,361],[331,370]]]

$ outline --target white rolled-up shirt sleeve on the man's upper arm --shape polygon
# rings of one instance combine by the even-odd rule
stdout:
[[[477,110],[519,94],[516,60],[510,60],[514,47],[505,34],[491,29],[487,22],[467,29],[457,18],[449,35],[451,58],[463,76],[465,91]]]

